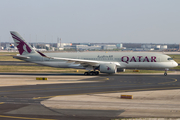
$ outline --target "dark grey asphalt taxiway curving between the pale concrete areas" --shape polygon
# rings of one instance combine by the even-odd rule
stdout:
[[[13,73],[13,75],[26,75]],[[1,73],[0,75],[11,75],[11,73]],[[49,75],[49,76],[71,76],[82,74],[27,74],[27,75]],[[103,78],[103,79],[102,79]],[[74,115],[30,115],[30,114],[11,114],[9,111],[20,109],[29,105],[31,109],[44,107],[41,101],[61,95],[79,95],[79,94],[96,94],[96,93],[120,93],[131,91],[149,91],[149,90],[170,90],[180,88],[180,75],[100,75],[91,79],[92,83],[68,83],[68,84],[48,84],[48,85],[24,85],[0,87],[0,119],[112,119],[112,117],[94,117],[94,116],[74,116]],[[83,79],[81,81],[89,81]],[[37,108],[36,108],[37,109]],[[44,109],[49,109],[45,108]],[[50,109],[49,109],[50,110]],[[51,110],[50,110],[51,111]],[[67,110],[66,110],[67,111]],[[97,112],[97,111],[91,111]],[[114,113],[113,111],[98,111],[102,114]],[[123,111],[118,111],[123,112]],[[37,112],[38,113],[38,112]],[[41,111],[39,111],[41,113]],[[18,118],[18,117],[19,118]]]

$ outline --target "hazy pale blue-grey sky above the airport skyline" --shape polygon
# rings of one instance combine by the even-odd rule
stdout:
[[[0,0],[0,42],[180,43],[180,0]]]

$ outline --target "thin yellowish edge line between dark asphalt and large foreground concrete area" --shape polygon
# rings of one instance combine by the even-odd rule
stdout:
[[[134,91],[144,91],[144,90],[179,89],[179,88],[180,88],[180,87],[129,89],[129,90],[117,90],[117,91],[105,91],[105,92],[81,93],[81,94],[70,94],[70,95],[55,95],[55,96],[45,96],[45,97],[34,97],[33,99],[48,99],[48,98],[52,98],[52,97],[60,97],[60,96],[90,95],[90,94],[104,94],[104,93],[117,93],[117,92],[130,92],[130,91],[134,92]]]

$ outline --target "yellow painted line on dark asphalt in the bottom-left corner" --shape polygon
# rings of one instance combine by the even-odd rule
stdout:
[[[28,117],[5,116],[5,115],[0,115],[0,117],[1,117],[1,118],[24,119],[24,120],[57,120],[57,119],[45,119],[45,118],[28,118]]]

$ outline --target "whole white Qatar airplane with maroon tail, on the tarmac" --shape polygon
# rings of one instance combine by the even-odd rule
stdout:
[[[41,53],[35,51],[15,31],[10,31],[14,45],[19,54],[13,58],[40,65],[57,68],[86,69],[84,75],[99,75],[100,73],[113,74],[126,68],[134,69],[165,69],[178,64],[168,55],[152,52],[71,52],[71,53]]]

